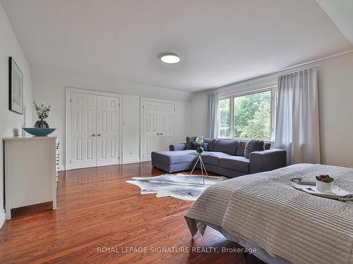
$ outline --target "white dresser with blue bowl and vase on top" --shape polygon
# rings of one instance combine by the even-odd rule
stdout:
[[[53,202],[56,209],[56,137],[4,138],[5,213]]]

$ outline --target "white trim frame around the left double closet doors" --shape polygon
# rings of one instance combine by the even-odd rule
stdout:
[[[71,103],[70,97],[71,92],[76,92],[80,94],[94,94],[94,95],[102,95],[102,96],[112,96],[119,98],[119,164],[123,163],[123,127],[122,127],[122,120],[123,120],[123,111],[122,111],[122,96],[121,94],[115,94],[111,92],[100,92],[95,90],[89,89],[80,89],[74,87],[66,87],[65,89],[65,170],[70,170],[70,160],[71,160],[71,140],[70,140],[70,129],[71,129]]]

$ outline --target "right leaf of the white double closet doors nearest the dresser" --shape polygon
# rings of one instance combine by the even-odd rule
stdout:
[[[119,164],[119,98],[97,96],[97,166]]]

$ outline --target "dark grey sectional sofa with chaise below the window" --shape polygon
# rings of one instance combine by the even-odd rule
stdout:
[[[245,141],[204,139],[204,142],[207,151],[212,153],[212,156],[203,156],[205,168],[219,175],[237,177],[286,166],[286,151],[270,149],[270,143],[265,143],[264,151],[251,152],[245,158]],[[191,170],[197,156],[189,155],[190,152],[195,150],[186,149],[186,143],[170,145],[169,151],[152,152],[152,166],[169,173]]]

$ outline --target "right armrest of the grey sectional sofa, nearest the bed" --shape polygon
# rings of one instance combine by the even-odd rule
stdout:
[[[250,173],[275,170],[287,165],[287,151],[282,149],[268,149],[250,153]]]

